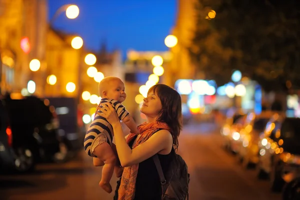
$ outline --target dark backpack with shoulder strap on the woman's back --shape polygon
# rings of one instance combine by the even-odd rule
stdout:
[[[163,174],[157,154],[153,155],[162,190],[162,200],[188,200],[189,173],[182,157],[171,150],[172,158],[166,174]]]

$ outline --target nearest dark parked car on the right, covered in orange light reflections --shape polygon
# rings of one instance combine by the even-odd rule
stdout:
[[[300,118],[274,115],[259,141],[258,177],[269,176],[272,191],[299,175]]]

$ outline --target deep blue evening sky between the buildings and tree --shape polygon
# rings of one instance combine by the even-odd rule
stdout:
[[[76,33],[85,48],[98,50],[105,42],[108,50],[166,51],[164,38],[175,24],[176,0],[48,0],[52,18],[62,5],[75,4],[79,16],[70,20],[65,13],[54,21],[56,29]]]

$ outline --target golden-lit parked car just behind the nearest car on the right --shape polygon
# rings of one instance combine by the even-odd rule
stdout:
[[[271,116],[271,111],[260,114],[251,112],[247,115],[244,127],[236,140],[238,157],[244,167],[255,166],[258,162],[258,141]]]

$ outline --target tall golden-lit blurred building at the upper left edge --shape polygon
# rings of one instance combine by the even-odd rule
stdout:
[[[1,94],[20,92],[34,76],[29,62],[45,56],[46,27],[46,0],[0,1]],[[41,63],[40,68],[44,67]],[[42,90],[40,86],[37,89]]]

